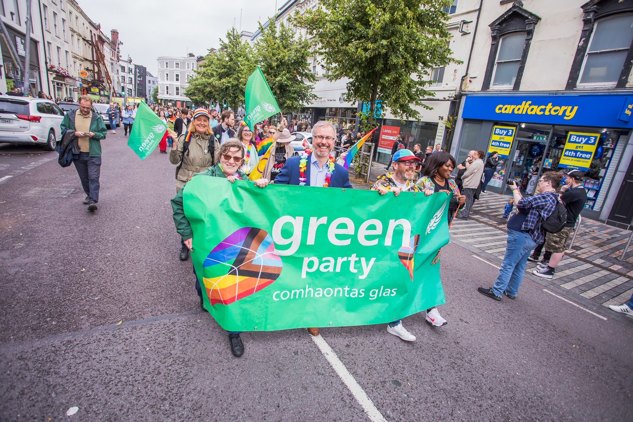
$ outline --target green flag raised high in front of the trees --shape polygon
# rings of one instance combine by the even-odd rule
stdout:
[[[277,100],[273,97],[266,78],[264,74],[261,73],[260,66],[257,66],[253,74],[249,76],[246,81],[244,104],[246,105],[244,121],[251,130],[254,130],[255,123],[280,112]]]

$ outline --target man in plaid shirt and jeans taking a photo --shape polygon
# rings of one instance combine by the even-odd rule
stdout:
[[[556,208],[558,195],[556,190],[560,186],[563,175],[555,171],[543,173],[539,179],[537,194],[522,197],[515,183],[510,185],[517,204],[517,212],[508,219],[508,240],[506,253],[503,256],[501,269],[492,289],[479,287],[479,293],[501,301],[505,294],[510,299],[517,297],[518,288],[523,281],[525,264],[532,249],[544,242],[542,220],[546,220]],[[542,220],[541,220],[542,218]]]

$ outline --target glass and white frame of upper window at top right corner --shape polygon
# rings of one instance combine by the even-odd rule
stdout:
[[[615,85],[633,40],[633,13],[596,21],[579,85]]]

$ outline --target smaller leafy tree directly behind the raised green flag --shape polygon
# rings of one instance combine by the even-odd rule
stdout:
[[[261,35],[254,43],[256,63],[266,77],[266,82],[279,104],[282,113],[299,110],[302,105],[316,99],[312,84],[316,76],[310,71],[308,58],[311,42],[291,27],[260,23]]]

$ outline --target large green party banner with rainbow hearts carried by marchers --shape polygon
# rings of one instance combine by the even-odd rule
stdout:
[[[448,194],[202,175],[183,194],[204,307],[225,330],[387,323],[446,302]]]

